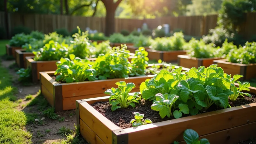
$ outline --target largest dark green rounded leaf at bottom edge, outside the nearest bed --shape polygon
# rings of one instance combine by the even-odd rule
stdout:
[[[192,129],[186,129],[183,138],[187,144],[195,144],[198,141],[199,135]]]

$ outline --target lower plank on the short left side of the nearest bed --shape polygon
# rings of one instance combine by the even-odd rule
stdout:
[[[84,139],[90,144],[105,144],[99,136],[94,133],[88,125],[84,123],[82,119],[80,120],[80,133],[84,137]]]

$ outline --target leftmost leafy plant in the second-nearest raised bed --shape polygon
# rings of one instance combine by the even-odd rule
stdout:
[[[96,71],[92,69],[89,60],[82,60],[75,55],[70,54],[70,59],[62,58],[56,63],[57,70],[55,71],[57,81],[65,81],[66,83],[79,81],[94,81],[96,78]],[[58,75],[59,74],[59,75]]]

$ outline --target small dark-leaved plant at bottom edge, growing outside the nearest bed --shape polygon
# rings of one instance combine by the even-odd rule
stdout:
[[[192,129],[186,129],[183,133],[183,139],[186,141],[187,144],[210,144],[209,140],[207,139],[199,139],[198,133]],[[174,141],[174,144],[179,144],[179,142]]]

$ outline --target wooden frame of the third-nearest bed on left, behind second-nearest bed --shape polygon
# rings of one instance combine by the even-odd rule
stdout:
[[[134,54],[130,53],[130,58],[128,59],[130,62],[132,58],[134,58]],[[59,60],[53,61],[34,61],[34,57],[26,57],[26,68],[31,68],[32,70],[32,81],[34,83],[38,83],[39,80],[39,72],[50,72],[55,71],[57,69],[56,62]],[[89,58],[89,60],[96,60],[96,58]]]

